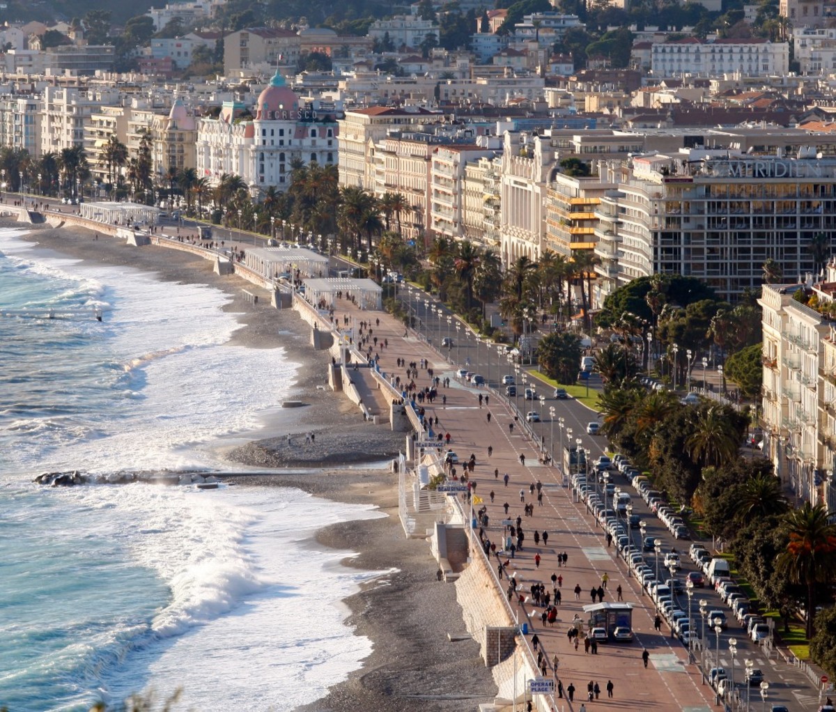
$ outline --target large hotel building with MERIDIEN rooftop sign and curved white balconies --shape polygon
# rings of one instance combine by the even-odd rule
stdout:
[[[661,272],[698,277],[733,302],[761,286],[767,259],[785,275],[813,272],[809,243],[836,227],[836,160],[815,150],[684,149],[607,170],[617,188],[601,198],[595,227],[604,296]]]

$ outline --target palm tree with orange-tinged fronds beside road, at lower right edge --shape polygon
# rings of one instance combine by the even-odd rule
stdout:
[[[777,566],[791,581],[807,587],[807,638],[813,637],[816,589],[828,591],[833,581],[836,562],[836,525],[829,521],[823,505],[805,501],[800,509],[790,511],[784,519],[789,543]]]

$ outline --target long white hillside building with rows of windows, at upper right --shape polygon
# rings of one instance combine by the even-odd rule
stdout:
[[[789,70],[789,44],[763,38],[703,42],[688,37],[660,42],[651,50],[650,70],[655,77],[784,76]]]

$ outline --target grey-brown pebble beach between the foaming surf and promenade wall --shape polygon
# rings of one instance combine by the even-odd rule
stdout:
[[[349,399],[330,391],[324,379],[329,353],[316,352],[307,343],[308,326],[297,313],[274,309],[267,298],[248,303],[242,289],[255,290],[259,296],[262,290],[240,277],[216,275],[212,262],[186,252],[129,247],[106,236],[94,241],[91,231],[81,229],[3,223],[22,230],[27,242],[64,257],[154,272],[163,282],[220,289],[230,297],[223,311],[236,313],[240,323],[227,343],[282,348],[283,358],[297,365],[290,392],[308,406],[275,409],[265,414],[257,430],[231,436],[227,443],[220,440],[215,451],[233,467],[325,469],[222,479],[239,486],[298,487],[331,501],[372,504],[387,515],[325,526],[302,542],[354,552],[342,565],[381,576],[362,584],[343,602],[349,610],[345,624],[370,638],[372,653],[359,661],[348,679],[329,688],[323,699],[299,709],[452,712],[461,709],[462,699],[472,699],[474,708],[492,701],[496,685],[479,657],[477,643],[469,639],[451,643],[447,638],[447,633],[465,633],[456,588],[436,581],[437,564],[427,542],[405,537],[398,516],[397,477],[380,465],[372,466],[392,459],[403,448],[404,434],[364,423]],[[305,445],[300,435],[310,432],[316,435],[315,445]],[[340,470],[345,465],[348,469]]]

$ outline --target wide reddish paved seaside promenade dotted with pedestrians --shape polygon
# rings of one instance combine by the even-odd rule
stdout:
[[[562,603],[558,608],[558,621],[553,626],[548,623],[543,626],[540,622],[542,608],[533,607],[532,601],[522,605],[514,603],[519,609],[520,622],[528,622],[529,640],[532,633],[537,633],[545,650],[547,674],[553,674],[552,659],[557,654],[558,676],[563,687],[568,688],[571,683],[576,690],[573,704],[567,699],[558,699],[558,705],[565,704],[568,710],[579,709],[582,702],[586,702],[588,710],[604,705],[609,709],[682,709],[686,712],[711,709],[711,689],[701,684],[696,665],[687,664],[685,648],[665,634],[655,632],[655,612],[650,599],[641,595],[640,587],[628,575],[624,562],[614,556],[614,549],[606,547],[602,530],[594,524],[585,506],[573,502],[572,492],[563,486],[558,469],[538,462],[537,444],[515,423],[512,411],[497,402],[500,400],[497,396],[461,383],[456,379],[457,366],[446,361],[411,331],[405,337],[403,324],[389,314],[360,311],[345,300],[336,303],[335,313],[338,318],[349,314],[358,322],[370,323],[371,337],[377,336],[379,345],[383,339],[388,340],[388,348],[373,348],[373,355],[379,354],[380,369],[386,374],[400,376],[401,383],[410,383],[413,379],[407,374],[407,368],[398,365],[398,359],[403,359],[406,364],[419,364],[418,376],[414,379],[419,389],[431,384],[430,372],[441,379],[435,403],[425,403],[423,407],[426,417],[433,420],[436,433],[450,433],[451,448],[462,463],[457,466],[458,472],[471,454],[476,455],[477,465],[470,481],[475,483],[475,493],[487,507],[490,526],[486,536],[498,546],[502,539],[501,521],[517,516],[523,519],[526,534],[523,551],[517,552],[509,567],[518,588],[530,599],[533,583],[543,583],[550,592],[552,574],[563,578]],[[379,324],[377,319],[380,319]],[[366,329],[364,335],[368,334]],[[421,368],[421,359],[425,359],[424,368]],[[445,379],[450,379],[447,387],[443,385]],[[481,406],[480,393],[483,396]],[[484,402],[486,395],[487,403]],[[490,456],[489,446],[492,447]],[[525,456],[524,465],[520,455]],[[506,473],[507,485],[503,479]],[[538,503],[536,489],[533,495],[531,493],[532,486],[536,487],[538,482],[542,483],[542,503]],[[524,516],[525,504],[532,502],[533,516]],[[539,545],[534,543],[535,531],[541,535]],[[543,544],[543,531],[548,531],[548,546]],[[558,553],[563,552],[567,554],[568,562],[559,567]],[[534,560],[537,554],[541,557],[539,567]],[[502,561],[505,559],[502,557]],[[496,561],[496,557],[492,557],[492,562]],[[584,651],[583,643],[575,649],[566,633],[575,615],[586,619],[582,607],[592,603],[590,590],[601,585],[604,574],[609,577],[604,600],[616,600],[616,587],[620,585],[624,601],[634,606],[635,642],[600,644],[598,654],[594,655]],[[581,588],[579,600],[573,592],[576,585]],[[648,669],[644,668],[641,659],[643,648],[650,653]],[[614,684],[612,699],[607,698],[608,680]],[[600,698],[592,704],[586,701],[589,681],[597,682],[601,689]]]

